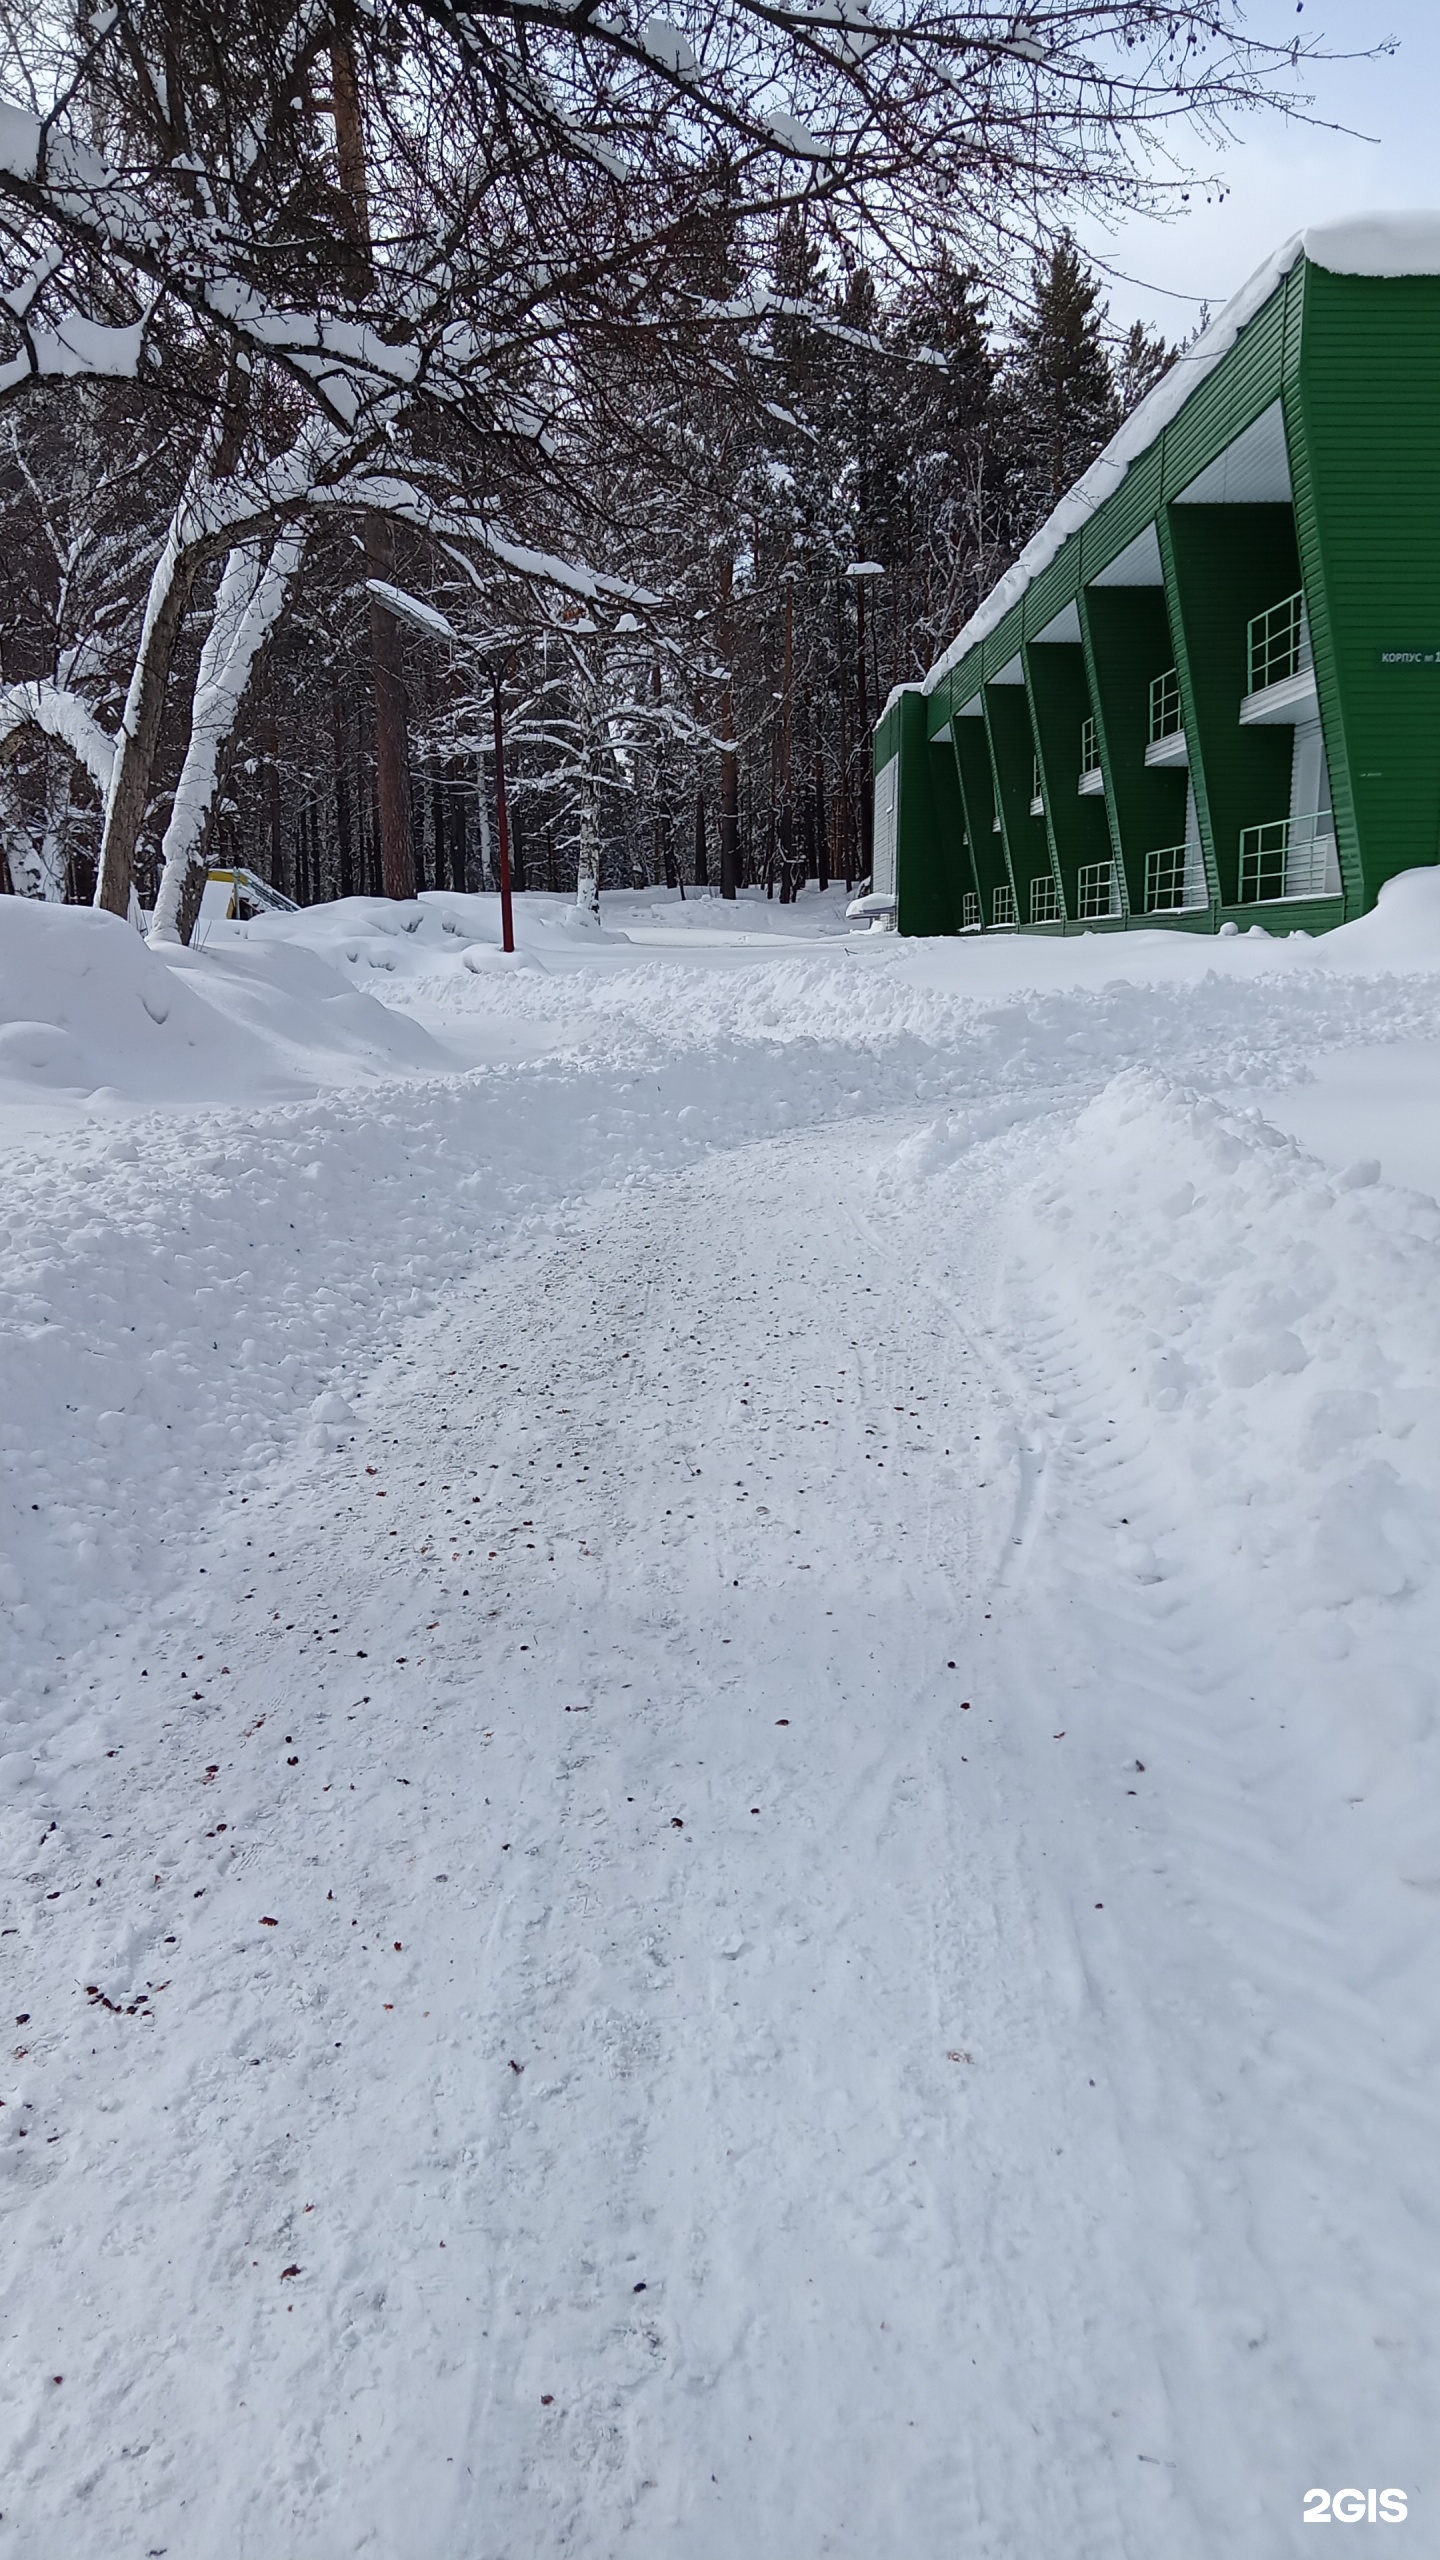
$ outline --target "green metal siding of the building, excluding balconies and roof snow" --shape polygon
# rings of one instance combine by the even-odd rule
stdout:
[[[1250,504],[1186,497],[1276,402],[1294,504],[1263,479]],[[1094,929],[1235,919],[1317,932],[1371,906],[1396,870],[1440,860],[1437,415],[1440,276],[1332,276],[1302,259],[997,630],[917,709],[910,696],[887,709],[876,768],[902,755],[902,929],[953,932],[971,881],[986,922],[994,891],[1012,886],[1025,927],[1030,883],[1045,876],[1066,901],[1066,924],[1048,929],[1074,929],[1079,870],[1112,852],[1127,914]],[[1263,466],[1263,443],[1256,453]],[[1148,527],[1163,589],[1094,586]],[[1299,586],[1345,893],[1240,904],[1240,835],[1291,814],[1297,753],[1291,724],[1240,727],[1245,625]],[[1040,640],[1071,602],[1081,643]],[[1432,663],[1386,666],[1386,650]],[[1025,686],[994,681],[1012,660]],[[1171,663],[1209,906],[1145,919],[1145,855],[1186,832],[1184,768],[1145,765],[1148,686]],[[976,694],[984,724],[956,717]],[[1104,799],[1076,791],[1086,714]],[[945,719],[953,745],[935,740]],[[1035,758],[1043,817],[1030,814]]]

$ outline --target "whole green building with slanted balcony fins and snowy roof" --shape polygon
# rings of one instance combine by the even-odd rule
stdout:
[[[1299,233],[876,727],[899,932],[1320,932],[1440,858],[1440,215]]]

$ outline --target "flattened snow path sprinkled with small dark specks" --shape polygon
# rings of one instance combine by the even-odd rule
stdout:
[[[102,1761],[59,1818],[172,1989],[110,2117],[74,1935],[33,1994],[87,2166],[23,2199],[74,2388],[15,2483],[77,2560],[1122,2547],[1033,1810],[958,1715],[1012,1431],[917,1224],[856,1244],[869,1144],[497,1257],[115,1659],[143,1795]]]

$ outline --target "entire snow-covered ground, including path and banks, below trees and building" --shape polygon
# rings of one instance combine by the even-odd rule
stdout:
[[[1440,881],[497,942],[0,899],[0,2555],[1430,2547]]]

